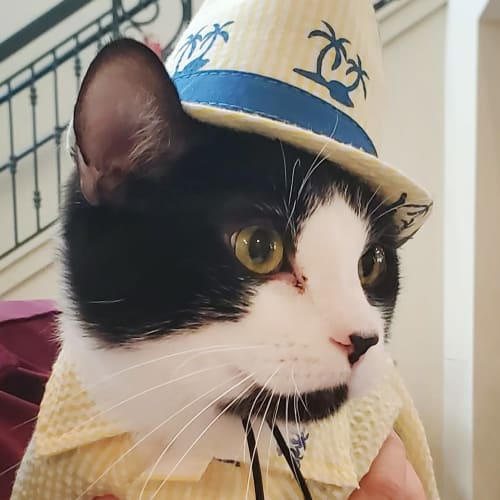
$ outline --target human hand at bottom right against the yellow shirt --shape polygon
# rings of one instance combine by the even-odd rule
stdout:
[[[399,436],[392,432],[349,500],[426,500]]]

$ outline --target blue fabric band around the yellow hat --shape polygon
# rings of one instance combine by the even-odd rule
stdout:
[[[243,71],[177,73],[181,101],[257,114],[331,137],[377,156],[373,142],[349,115],[287,83]]]

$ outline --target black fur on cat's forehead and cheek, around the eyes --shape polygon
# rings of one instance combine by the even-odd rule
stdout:
[[[385,210],[359,179],[325,162],[309,179],[285,229],[288,187],[278,142],[209,126],[192,140],[193,150],[169,167],[167,177],[137,180],[118,207],[90,206],[77,176],[71,180],[63,226],[67,279],[81,319],[105,343],[125,344],[245,314],[252,293],[269,277],[254,275],[234,257],[228,235],[241,227],[270,224],[286,235],[293,252],[305,213],[330,199],[332,186],[347,186],[353,208],[373,211],[373,220]],[[300,159],[294,200],[315,157],[289,146],[285,152],[288,180]],[[392,312],[398,261],[390,214],[372,234],[385,248],[388,272],[367,294]]]

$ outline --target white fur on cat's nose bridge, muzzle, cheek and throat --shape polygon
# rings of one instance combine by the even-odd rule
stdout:
[[[280,394],[294,393],[295,385],[303,393],[347,383],[356,395],[381,377],[387,362],[380,344],[353,370],[346,353],[329,340],[346,343],[353,332],[377,332],[383,338],[381,312],[368,303],[358,278],[366,238],[366,222],[336,196],[314,211],[298,242],[295,265],[307,278],[303,291],[272,280],[260,286],[249,313],[237,323],[212,324],[127,348],[98,349],[66,314],[64,349],[99,407],[114,407],[106,415],[118,418],[139,439],[170,417],[141,446],[153,462],[200,414],[162,460],[176,463],[217,416],[212,402],[224,392],[227,401],[251,382]],[[180,377],[185,378],[169,382]],[[151,390],[162,383],[167,385]],[[228,439],[231,432],[239,436],[237,442]],[[188,455],[202,462],[214,455],[235,456],[242,439],[241,423],[224,416],[206,432],[196,453]]]

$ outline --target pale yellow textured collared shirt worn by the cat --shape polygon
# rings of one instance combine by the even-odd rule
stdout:
[[[98,413],[63,351],[47,385],[12,500],[86,500],[103,494],[138,500],[141,492],[144,500],[239,500],[247,491],[248,498],[254,498],[248,463],[236,466],[216,457],[201,477],[164,481],[153,475],[147,480],[147,464],[131,450],[132,436]],[[396,369],[372,393],[308,426],[301,471],[313,499],[348,498],[393,428],[405,443],[428,499],[438,500],[424,430]],[[269,457],[269,474],[264,471],[263,479],[266,500],[302,499],[278,453]]]

